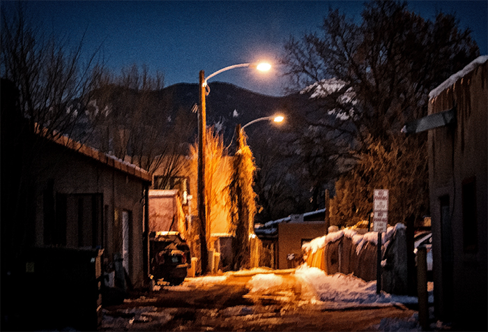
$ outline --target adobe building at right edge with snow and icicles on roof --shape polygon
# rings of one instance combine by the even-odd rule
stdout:
[[[424,118],[444,123],[426,128],[435,314],[458,331],[487,331],[487,77],[480,56],[429,93]]]

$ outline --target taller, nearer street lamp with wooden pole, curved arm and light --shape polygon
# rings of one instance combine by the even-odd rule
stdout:
[[[205,234],[200,232],[200,253],[201,253],[201,269],[202,273],[206,272],[207,268],[207,248],[206,248],[206,229],[207,218],[206,218],[206,206],[205,206],[205,145],[206,145],[206,96],[207,91],[207,81],[211,77],[218,75],[224,71],[234,69],[234,68],[256,68],[257,70],[266,71],[271,68],[269,63],[241,63],[238,65],[228,66],[217,70],[215,73],[205,77],[204,70],[200,70],[199,73],[199,101],[200,107],[198,108],[198,188],[197,188],[197,204],[198,204],[198,217],[201,222],[201,227]]]

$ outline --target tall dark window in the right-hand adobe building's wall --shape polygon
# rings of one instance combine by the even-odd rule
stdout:
[[[476,220],[476,181],[475,178],[463,181],[463,243],[464,251],[478,250],[478,222]]]

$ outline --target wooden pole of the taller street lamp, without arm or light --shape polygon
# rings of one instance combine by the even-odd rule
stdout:
[[[206,241],[206,199],[205,199],[205,149],[206,149],[206,82],[204,70],[199,73],[198,107],[198,218],[200,220],[200,259],[201,274],[207,272],[208,253]]]

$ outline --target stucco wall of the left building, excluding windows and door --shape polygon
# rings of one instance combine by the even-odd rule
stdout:
[[[144,218],[144,183],[135,176],[124,174],[118,169],[108,167],[75,151],[57,144],[47,144],[39,156],[34,172],[38,173],[36,183],[36,246],[44,243],[43,190],[49,179],[54,179],[54,193],[102,195],[102,248],[104,258],[114,260],[114,241],[121,234],[114,234],[115,210],[129,211],[129,276],[132,285],[142,285],[144,278],[143,218]],[[33,188],[34,189],[34,188]],[[101,230],[101,229],[100,229]],[[67,246],[77,243],[77,225],[67,225]]]

